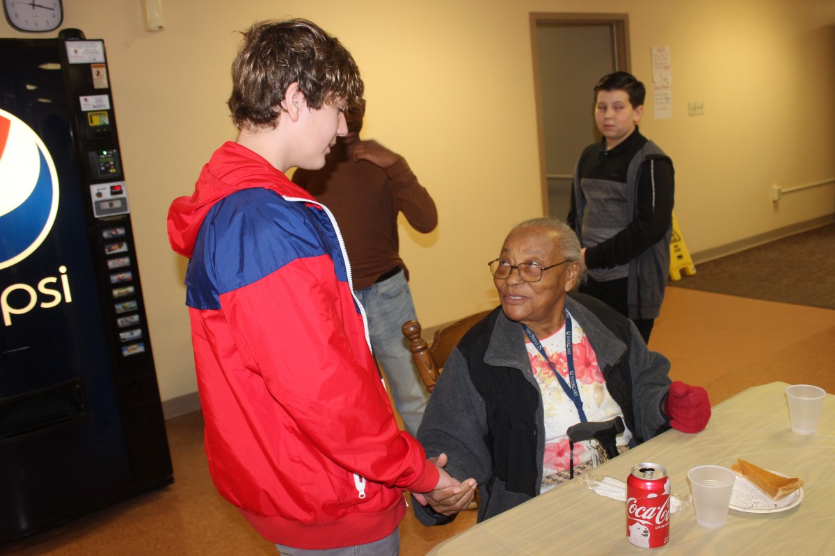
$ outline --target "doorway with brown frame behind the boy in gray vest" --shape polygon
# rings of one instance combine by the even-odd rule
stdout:
[[[630,71],[629,17],[532,13],[530,23],[543,207],[549,216],[564,219],[577,158],[601,138],[594,118],[595,83],[606,73]]]

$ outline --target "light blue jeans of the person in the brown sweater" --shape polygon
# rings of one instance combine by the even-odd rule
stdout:
[[[429,393],[417,374],[408,340],[402,333],[403,323],[417,318],[406,275],[401,270],[356,293],[366,310],[374,356],[386,374],[394,406],[406,430],[414,435],[423,419]]]

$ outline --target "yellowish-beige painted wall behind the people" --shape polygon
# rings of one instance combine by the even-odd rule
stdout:
[[[495,303],[486,262],[509,227],[542,213],[529,13],[629,13],[633,72],[671,48],[673,117],[642,131],[676,163],[676,216],[691,253],[835,213],[832,0],[163,0],[144,30],[141,0],[65,0],[64,27],[104,38],[164,400],[195,392],[182,285],[168,247],[172,198],[235,130],[226,115],[235,30],[309,18],[337,35],[367,84],[366,138],[407,156],[438,203],[438,230],[402,230],[427,325]],[[20,37],[0,23],[0,36]],[[50,35],[54,36],[54,35]],[[686,103],[706,115],[689,118]],[[578,153],[579,154],[579,153]],[[756,269],[754,269],[756,270]]]

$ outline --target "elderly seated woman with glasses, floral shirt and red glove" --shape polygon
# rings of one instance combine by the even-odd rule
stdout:
[[[671,383],[670,362],[628,318],[570,293],[584,274],[579,260],[574,232],[538,218],[513,228],[489,263],[501,307],[453,350],[417,431],[427,455],[462,483],[413,504],[421,523],[451,521],[476,483],[482,521],[584,472],[596,441],[569,446],[575,423],[622,417],[617,452],[671,426],[705,428],[704,388]]]

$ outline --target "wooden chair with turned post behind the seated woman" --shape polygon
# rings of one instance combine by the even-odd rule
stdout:
[[[435,388],[438,377],[447,363],[449,354],[458,345],[463,335],[467,333],[473,324],[490,314],[490,311],[475,313],[454,323],[444,325],[435,332],[435,338],[430,346],[421,337],[421,326],[416,320],[410,320],[403,324],[403,336],[409,340],[409,349],[412,351],[417,372],[423,379],[423,384],[429,393]]]

